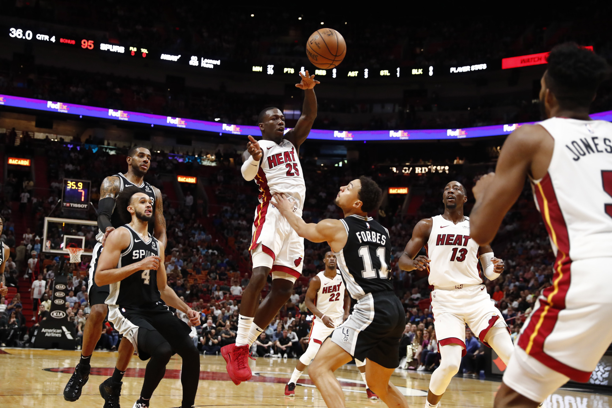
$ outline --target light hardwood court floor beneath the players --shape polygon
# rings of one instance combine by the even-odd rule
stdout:
[[[4,352],[3,352],[4,350]],[[98,385],[109,377],[114,368],[117,353],[95,352],[92,371],[83,395],[77,402],[64,401],[62,391],[78,363],[78,351],[0,349],[0,407],[53,407],[78,408],[102,407],[103,399]],[[220,356],[200,357],[200,386],[195,399],[201,407],[325,407],[318,390],[307,376],[300,379],[296,396],[285,397],[285,383],[296,365],[294,359],[258,358],[251,361],[253,379],[239,386],[231,382],[225,371],[225,361]],[[132,358],[124,376],[121,404],[130,408],[138,399],[143,383],[146,361]],[[151,399],[152,408],[177,407],[181,404],[181,358],[175,356],[168,363],[166,376]],[[344,366],[337,371],[345,390],[346,406],[351,408],[385,407],[381,401],[366,398],[365,388],[355,366]],[[401,387],[411,407],[425,404],[430,374],[414,371],[396,371],[392,382]],[[499,382],[453,378],[442,399],[446,407],[492,407],[494,392]],[[545,403],[548,408],[608,408],[612,397],[558,391]]]

